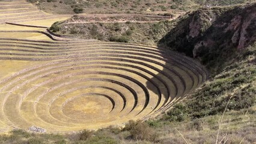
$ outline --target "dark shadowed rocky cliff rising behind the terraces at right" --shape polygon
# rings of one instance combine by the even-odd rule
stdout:
[[[189,13],[159,41],[159,46],[168,46],[212,66],[212,61],[224,61],[255,40],[256,3]]]

